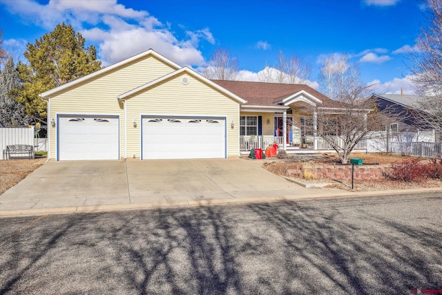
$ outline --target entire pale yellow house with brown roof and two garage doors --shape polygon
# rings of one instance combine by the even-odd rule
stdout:
[[[294,122],[305,106],[334,105],[306,85],[211,81],[153,50],[41,99],[55,160],[238,158],[273,142],[299,149],[303,137],[316,149]]]

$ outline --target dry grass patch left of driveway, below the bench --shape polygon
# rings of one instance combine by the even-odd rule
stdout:
[[[0,195],[43,164],[42,159],[0,161]]]

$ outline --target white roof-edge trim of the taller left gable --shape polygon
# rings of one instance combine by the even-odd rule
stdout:
[[[79,83],[85,82],[88,79],[92,79],[93,77],[97,77],[98,75],[103,75],[104,73],[108,73],[111,70],[114,70],[115,68],[118,68],[120,66],[124,66],[125,64],[129,64],[132,61],[135,61],[137,59],[141,59],[142,57],[147,57],[148,55],[152,55],[153,57],[156,57],[157,59],[160,59],[161,61],[164,61],[164,63],[168,64],[169,66],[171,66],[172,68],[181,68],[180,65],[175,64],[173,61],[171,61],[170,59],[166,59],[166,57],[160,55],[159,53],[156,53],[154,50],[149,49],[147,51],[144,51],[144,53],[140,53],[138,55],[134,55],[133,57],[129,57],[128,59],[124,59],[122,61],[117,62],[116,64],[113,64],[111,66],[108,66],[106,68],[102,68],[101,70],[97,70],[94,73],[90,73],[89,75],[86,75],[84,77],[75,79],[74,81],[71,81],[69,83],[63,84],[61,86],[52,88],[48,91],[45,91],[44,93],[40,94],[41,99],[46,100],[45,97],[47,97],[48,95],[53,95],[54,93],[57,93],[59,91],[63,91],[66,88],[75,86]]]

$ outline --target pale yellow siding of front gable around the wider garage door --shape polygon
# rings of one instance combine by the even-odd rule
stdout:
[[[182,84],[182,77],[189,84]],[[133,119],[141,115],[183,115],[226,117],[227,157],[239,155],[239,104],[200,80],[183,73],[136,93],[126,100],[128,155],[140,158],[141,126],[133,127]],[[231,122],[234,128],[231,129]]]

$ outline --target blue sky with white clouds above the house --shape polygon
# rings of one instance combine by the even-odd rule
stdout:
[[[317,86],[324,57],[347,54],[378,93],[412,93],[407,54],[425,23],[422,0],[0,0],[3,47],[17,57],[57,23],[97,47],[105,66],[153,48],[200,70],[217,48],[256,81],[278,52],[301,57]]]

